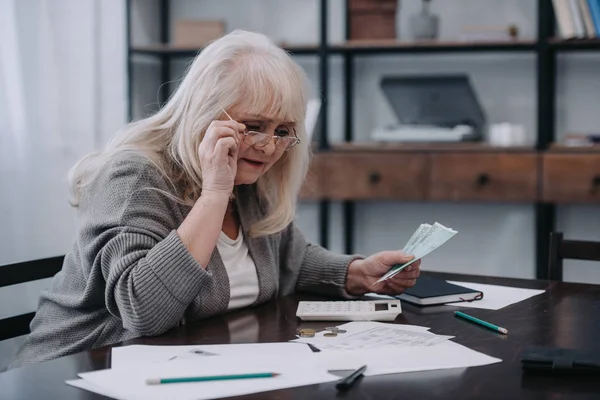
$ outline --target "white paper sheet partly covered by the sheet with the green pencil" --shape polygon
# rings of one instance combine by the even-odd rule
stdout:
[[[132,345],[114,347],[111,368],[126,369],[136,365],[157,364],[167,361],[199,360],[213,356],[268,357],[281,354],[299,357],[312,350],[300,343],[248,343],[193,346]]]

